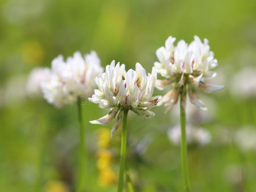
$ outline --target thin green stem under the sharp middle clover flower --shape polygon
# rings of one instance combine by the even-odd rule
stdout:
[[[127,114],[129,109],[124,109],[123,116],[123,127],[122,127],[122,141],[121,141],[121,153],[120,153],[120,168],[119,168],[119,179],[118,179],[118,192],[123,191],[124,186],[124,170],[125,170],[125,159],[126,159],[126,148],[127,148]]]

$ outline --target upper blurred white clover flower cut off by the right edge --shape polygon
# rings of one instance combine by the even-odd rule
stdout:
[[[256,68],[246,67],[233,77],[231,86],[232,95],[245,99],[256,97]]]

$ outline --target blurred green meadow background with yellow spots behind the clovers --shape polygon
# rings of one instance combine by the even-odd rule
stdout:
[[[202,94],[208,112],[188,106],[188,124],[210,134],[206,142],[189,144],[192,191],[255,191],[254,0],[1,0],[0,191],[67,192],[76,185],[77,106],[56,109],[29,96],[33,68],[50,67],[58,54],[95,50],[104,67],[115,59],[127,68],[140,62],[150,72],[156,49],[170,35],[187,42],[194,35],[208,38],[219,62],[213,81],[226,86]],[[95,104],[85,108],[87,122],[106,114]],[[136,191],[182,191],[179,145],[170,136],[170,128],[179,126],[179,110],[153,111],[156,116],[148,120],[129,113],[132,183]],[[86,191],[116,190],[120,130],[110,140],[111,125],[87,124]]]

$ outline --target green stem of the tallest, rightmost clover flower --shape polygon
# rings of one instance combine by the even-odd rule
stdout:
[[[185,97],[184,97],[185,95]],[[182,177],[184,182],[184,190],[189,190],[189,172],[188,172],[188,148],[187,148],[187,140],[186,140],[186,109],[182,105],[182,103],[186,103],[186,94],[182,89],[182,93],[180,94],[180,129],[181,129],[181,142],[180,142],[180,159],[181,159],[181,170]]]

